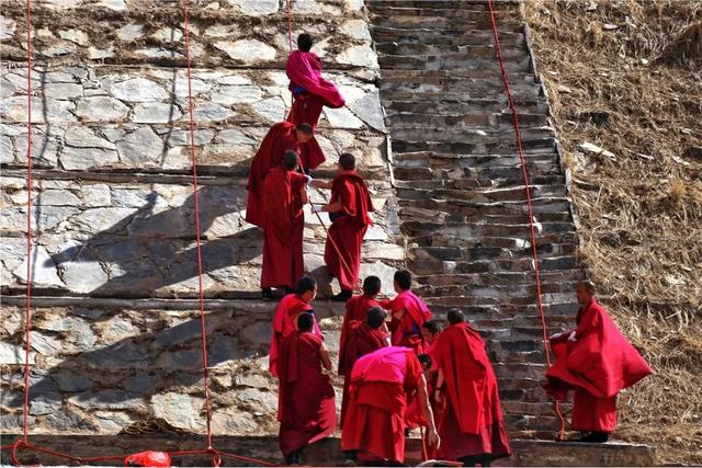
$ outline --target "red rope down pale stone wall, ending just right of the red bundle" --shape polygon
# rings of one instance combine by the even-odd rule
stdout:
[[[193,164],[193,201],[195,209],[195,241],[197,244],[197,288],[200,298],[200,331],[202,336],[202,370],[205,388],[205,418],[207,432],[207,447],[212,447],[211,401],[210,401],[210,372],[207,370],[207,332],[205,328],[205,296],[202,286],[202,246],[200,235],[200,194],[197,192],[197,153],[195,151],[195,119],[193,116],[193,88],[190,62],[190,0],[183,0],[183,20],[185,30],[185,62],[188,64],[188,112],[190,115],[190,153]]]

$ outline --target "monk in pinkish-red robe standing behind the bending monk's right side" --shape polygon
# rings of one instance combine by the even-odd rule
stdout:
[[[424,301],[412,293],[412,275],[407,270],[395,272],[393,286],[397,293],[390,303],[393,346],[411,347],[417,354],[422,354],[428,343],[422,338],[421,328],[431,319],[431,311]]]

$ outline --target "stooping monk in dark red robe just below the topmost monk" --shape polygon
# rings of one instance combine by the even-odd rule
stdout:
[[[287,151],[294,151],[299,156],[305,172],[317,168],[326,159],[313,137],[309,124],[294,125],[290,122],[274,124],[251,160],[249,183],[246,186],[246,190],[249,191],[246,202],[246,220],[248,222],[260,227],[264,226],[263,181],[271,169],[282,165],[283,155]]]

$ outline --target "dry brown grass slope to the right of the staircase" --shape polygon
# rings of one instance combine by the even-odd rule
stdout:
[[[702,145],[702,0],[529,0],[525,13],[580,256],[657,372],[622,393],[618,436],[702,464],[702,160],[686,152]]]

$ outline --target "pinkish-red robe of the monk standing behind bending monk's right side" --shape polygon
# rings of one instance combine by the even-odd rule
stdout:
[[[390,322],[393,346],[411,347],[417,354],[422,354],[428,343],[421,336],[421,327],[427,320],[431,320],[431,310],[410,289],[401,292],[390,303],[392,313],[403,309],[403,317],[399,320],[393,318]]]

